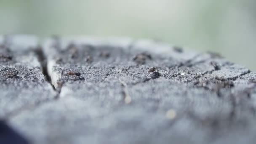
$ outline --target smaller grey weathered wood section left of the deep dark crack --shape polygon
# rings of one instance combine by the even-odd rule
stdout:
[[[34,107],[56,96],[40,71],[33,50],[36,37],[0,38],[0,118],[8,119],[26,107]]]

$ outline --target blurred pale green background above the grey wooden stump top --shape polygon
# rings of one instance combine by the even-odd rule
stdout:
[[[0,0],[0,34],[128,36],[256,71],[256,0]]]

